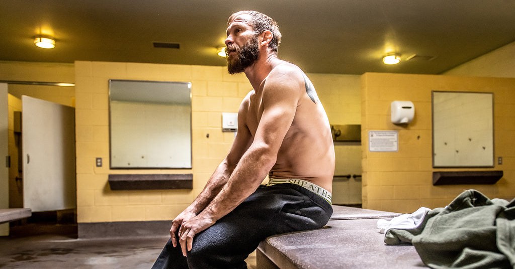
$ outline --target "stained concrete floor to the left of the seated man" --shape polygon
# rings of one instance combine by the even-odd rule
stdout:
[[[42,231],[43,230],[43,231]],[[168,238],[77,239],[70,225],[24,225],[0,237],[0,268],[150,268]],[[256,268],[255,252],[246,260]]]

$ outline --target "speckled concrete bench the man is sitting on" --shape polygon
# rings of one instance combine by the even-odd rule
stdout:
[[[412,245],[387,246],[376,229],[378,219],[399,213],[333,206],[322,229],[272,236],[256,252],[258,268],[420,268]]]

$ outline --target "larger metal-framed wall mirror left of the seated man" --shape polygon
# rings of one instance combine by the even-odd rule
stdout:
[[[192,168],[190,82],[109,80],[111,169]]]

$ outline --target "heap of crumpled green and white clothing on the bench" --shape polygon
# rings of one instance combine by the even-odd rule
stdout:
[[[447,207],[427,212],[414,229],[390,229],[385,243],[411,243],[431,268],[513,268],[515,202],[462,192]]]

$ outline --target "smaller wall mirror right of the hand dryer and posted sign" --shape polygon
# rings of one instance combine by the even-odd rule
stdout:
[[[433,167],[493,167],[493,93],[433,92]]]

